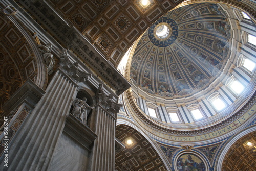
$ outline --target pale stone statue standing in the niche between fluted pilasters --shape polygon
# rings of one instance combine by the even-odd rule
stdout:
[[[87,117],[88,114],[94,107],[89,106],[87,103],[87,98],[84,97],[82,100],[76,98],[72,105],[73,105],[73,110],[71,111],[71,114],[73,114],[75,117],[80,119],[83,124],[87,124]]]

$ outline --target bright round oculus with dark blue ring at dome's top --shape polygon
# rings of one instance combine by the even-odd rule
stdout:
[[[161,17],[148,29],[148,38],[158,47],[167,47],[178,37],[178,26],[173,19]]]

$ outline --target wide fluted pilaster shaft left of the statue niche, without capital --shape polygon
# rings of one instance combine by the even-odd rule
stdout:
[[[65,125],[77,85],[57,70],[46,93],[27,117],[9,146],[4,170],[48,170],[58,137]]]

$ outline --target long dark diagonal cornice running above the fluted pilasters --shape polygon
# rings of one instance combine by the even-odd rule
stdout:
[[[102,81],[111,86],[117,95],[120,95],[131,86],[117,69],[106,60],[106,57],[95,49],[93,44],[74,27],[70,27],[48,4],[42,2],[38,8],[33,3],[20,2],[20,4],[32,14],[35,21],[47,30],[62,47],[73,51],[73,53],[80,57],[83,63],[90,66],[92,70],[97,71]],[[41,12],[43,8],[49,9],[47,13]],[[58,23],[58,26],[56,23]]]

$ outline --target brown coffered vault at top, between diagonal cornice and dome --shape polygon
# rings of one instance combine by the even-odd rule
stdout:
[[[159,17],[177,7],[177,5],[182,5],[183,1],[150,0],[150,4],[146,7],[142,5],[140,0],[47,0],[47,2],[65,19],[70,27],[74,26],[86,36],[106,56],[106,59],[117,67],[132,43]],[[223,2],[226,2],[226,0],[223,0]],[[184,1],[184,5],[189,3],[190,1]],[[238,1],[228,1],[228,3],[240,4]],[[48,10],[41,6],[39,1],[30,4],[38,8],[41,13],[49,15],[48,19],[50,21],[55,20],[50,13],[47,14]],[[250,4],[249,1],[248,4]],[[249,6],[241,7],[248,10],[252,15],[255,14],[255,11],[249,9]],[[60,23],[55,24],[60,31],[65,29],[61,27]]]

